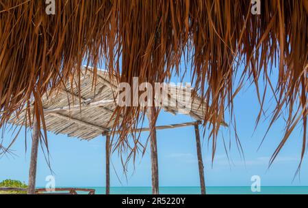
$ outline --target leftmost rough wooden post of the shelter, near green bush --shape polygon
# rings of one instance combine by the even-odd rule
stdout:
[[[38,162],[38,143],[40,139],[40,130],[38,129],[38,121],[34,116],[33,130],[32,130],[32,147],[31,160],[29,170],[28,194],[36,194],[36,164]]]

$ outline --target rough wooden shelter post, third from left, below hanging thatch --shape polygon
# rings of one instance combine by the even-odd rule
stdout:
[[[158,183],[158,159],[157,159],[157,138],[156,128],[153,122],[154,107],[149,108],[148,119],[150,128],[150,140],[151,140],[151,173],[152,173],[152,194],[159,194],[159,183]]]

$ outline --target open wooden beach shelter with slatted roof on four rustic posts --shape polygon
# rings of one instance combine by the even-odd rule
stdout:
[[[80,80],[79,80],[80,78]],[[118,83],[114,76],[106,71],[97,71],[97,82],[93,86],[94,72],[90,68],[83,68],[81,76],[75,76],[72,82],[59,87],[51,92],[47,92],[42,96],[42,108],[44,114],[44,128],[55,134],[66,134],[68,136],[81,138],[83,140],[91,140],[97,136],[106,136],[106,193],[110,193],[110,151],[112,150],[112,142],[110,136],[114,128],[114,113],[116,113],[116,99],[118,95]],[[80,89],[77,87],[79,81]],[[189,91],[183,91],[182,86],[166,85],[166,96],[164,100],[166,106],[163,108],[173,115],[179,113],[179,110],[185,108],[181,96],[185,93],[192,96]],[[190,98],[192,99],[192,98]],[[79,102],[81,101],[81,104]],[[140,128],[136,132],[151,132],[151,162],[152,162],[152,182],[153,194],[158,194],[158,162],[157,162],[157,144],[156,130],[164,130],[171,128],[181,128],[193,125],[196,132],[196,147],[198,153],[199,173],[201,179],[201,192],[205,194],[205,182],[203,173],[203,162],[201,154],[201,143],[198,125],[204,116],[204,106],[201,98],[195,97],[190,100],[191,108],[187,114],[196,121],[189,123],[177,123],[174,125],[155,126],[155,123],[149,119],[149,128]],[[33,106],[30,106],[30,111]],[[10,120],[14,125],[27,125],[31,119],[27,116],[27,109],[23,110],[19,115],[14,115]],[[31,114],[30,114],[31,115]],[[120,119],[123,115],[119,115]],[[222,123],[226,125],[225,123]],[[43,124],[41,123],[40,126]],[[34,133],[31,150],[31,165],[29,173],[29,193],[33,194],[36,179],[36,160],[38,149],[38,129],[34,124]],[[37,135],[36,135],[37,134]],[[120,134],[120,129],[113,132]],[[114,145],[118,145],[115,143]]]

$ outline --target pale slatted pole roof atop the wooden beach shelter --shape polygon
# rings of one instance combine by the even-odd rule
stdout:
[[[118,84],[116,77],[109,76],[107,71],[97,71],[97,82],[93,86],[94,72],[90,68],[83,68],[80,77],[80,91],[77,87],[78,76],[73,82],[53,91],[47,91],[42,96],[42,107],[44,108],[44,122],[46,130],[55,134],[66,134],[68,136],[90,140],[102,134],[110,133],[114,126],[114,113],[116,109],[116,95],[118,95]],[[164,99],[170,100],[164,109],[172,114],[179,113],[183,108],[181,104],[180,86],[168,85],[169,97]],[[81,105],[79,105],[79,98]],[[196,97],[191,100],[192,108],[187,113],[196,121],[201,121],[205,116],[204,107],[201,105],[201,98]],[[33,109],[34,106],[30,106]],[[10,120],[15,125],[26,125],[31,121],[27,111],[14,116]],[[123,115],[120,115],[122,121]],[[42,126],[42,125],[41,125]]]

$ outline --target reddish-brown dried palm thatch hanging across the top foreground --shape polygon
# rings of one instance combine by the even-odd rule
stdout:
[[[185,57],[186,63],[192,63],[192,83],[205,100],[213,158],[224,110],[229,107],[232,114],[233,98],[247,76],[255,83],[261,108],[264,97],[259,80],[274,95],[276,108],[270,125],[283,108],[289,112],[285,135],[272,160],[300,122],[303,158],[308,1],[261,1],[260,15],[251,14],[248,0],[62,0],[55,1],[55,15],[47,15],[46,6],[44,1],[0,1],[1,125],[32,98],[42,119],[41,95],[72,79],[85,59],[94,71],[104,62],[120,82],[132,83],[138,76],[140,83],[155,83],[174,73],[181,75],[179,65]],[[239,61],[244,61],[244,70]],[[276,63],[278,83],[274,86],[270,71]],[[235,83],[237,72],[241,78]],[[119,107],[117,111],[125,115],[118,122],[125,144],[125,135],[129,128],[136,128],[144,109]]]

